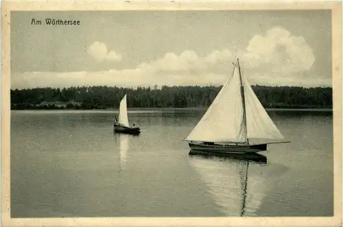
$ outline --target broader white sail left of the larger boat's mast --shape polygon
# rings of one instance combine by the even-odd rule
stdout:
[[[185,141],[246,142],[240,84],[239,70],[235,67],[233,76],[226,81]]]

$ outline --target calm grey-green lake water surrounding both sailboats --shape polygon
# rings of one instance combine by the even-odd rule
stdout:
[[[270,112],[292,143],[266,163],[189,156],[203,113],[132,111],[129,136],[110,111],[12,111],[12,217],[333,215],[331,112]]]

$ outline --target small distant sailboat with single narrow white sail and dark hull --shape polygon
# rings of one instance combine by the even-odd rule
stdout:
[[[139,127],[130,127],[128,123],[128,105],[126,101],[126,95],[121,99],[119,104],[119,120],[115,118],[114,130],[117,133],[126,134],[141,134],[141,129]]]

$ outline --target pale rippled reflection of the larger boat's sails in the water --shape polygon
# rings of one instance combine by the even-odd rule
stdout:
[[[225,158],[190,156],[189,162],[209,187],[209,193],[222,207],[224,215],[254,216],[270,189],[263,174],[266,157],[257,156],[261,158],[259,162],[235,155]]]

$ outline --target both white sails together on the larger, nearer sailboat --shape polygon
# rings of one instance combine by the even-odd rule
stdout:
[[[283,136],[240,73],[238,64],[185,141],[247,143],[249,138],[283,139]]]

